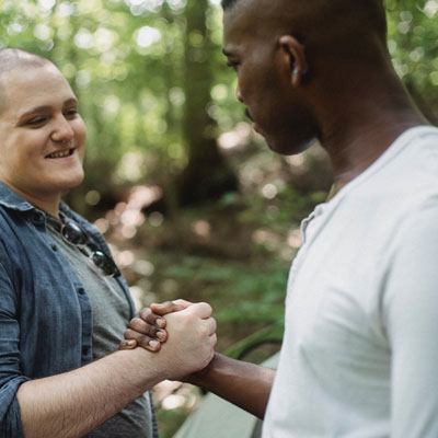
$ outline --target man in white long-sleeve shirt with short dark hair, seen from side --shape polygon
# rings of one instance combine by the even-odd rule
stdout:
[[[436,438],[438,129],[392,67],[383,2],[222,7],[255,130],[286,155],[319,140],[335,196],[302,222],[278,370],[216,354],[188,380],[264,417],[264,438]]]

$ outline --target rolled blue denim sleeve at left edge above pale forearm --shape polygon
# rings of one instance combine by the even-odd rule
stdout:
[[[21,372],[18,300],[10,278],[0,263],[0,437],[23,437],[16,392],[30,380]]]

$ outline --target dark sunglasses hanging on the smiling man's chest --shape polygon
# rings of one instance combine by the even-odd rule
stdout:
[[[78,223],[71,220],[64,222],[61,226],[61,235],[67,243],[78,247],[82,254],[88,256],[97,273],[105,277],[116,277],[120,275],[113,260],[90,242],[85,231],[82,230]]]

